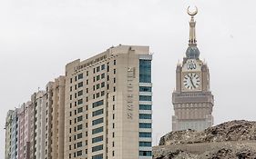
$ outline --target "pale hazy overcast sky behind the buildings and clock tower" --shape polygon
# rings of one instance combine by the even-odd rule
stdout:
[[[65,65],[111,45],[149,45],[153,56],[153,140],[171,130],[175,69],[189,37],[188,5],[197,5],[200,58],[210,67],[215,124],[256,120],[255,0],[1,0],[0,154],[5,115]]]

